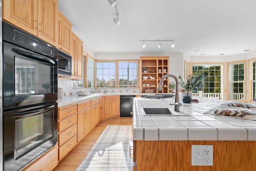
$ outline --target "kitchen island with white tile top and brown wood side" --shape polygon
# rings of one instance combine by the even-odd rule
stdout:
[[[169,105],[174,99],[134,98],[134,161],[138,171],[256,168],[256,121],[204,114],[228,101],[198,100],[199,103],[183,103],[178,115],[148,116],[143,114],[143,107],[174,109]],[[192,166],[192,145],[213,145],[213,166]]]

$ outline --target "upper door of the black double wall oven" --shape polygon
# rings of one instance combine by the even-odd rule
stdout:
[[[58,62],[3,42],[3,107],[20,107],[58,99]]]

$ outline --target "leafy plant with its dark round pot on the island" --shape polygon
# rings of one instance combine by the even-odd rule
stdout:
[[[182,101],[183,103],[191,103],[192,98],[189,96],[189,93],[192,92],[194,89],[196,89],[202,81],[200,80],[202,76],[192,76],[191,74],[186,77],[185,80],[183,80],[182,76],[179,75],[180,79],[180,86],[185,89],[186,95],[183,96]]]

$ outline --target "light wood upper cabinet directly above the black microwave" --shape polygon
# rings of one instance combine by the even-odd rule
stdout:
[[[71,54],[71,27],[70,21],[58,11],[58,48]]]

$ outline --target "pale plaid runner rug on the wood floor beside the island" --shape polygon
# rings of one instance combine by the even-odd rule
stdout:
[[[131,126],[108,125],[76,171],[132,171]]]

